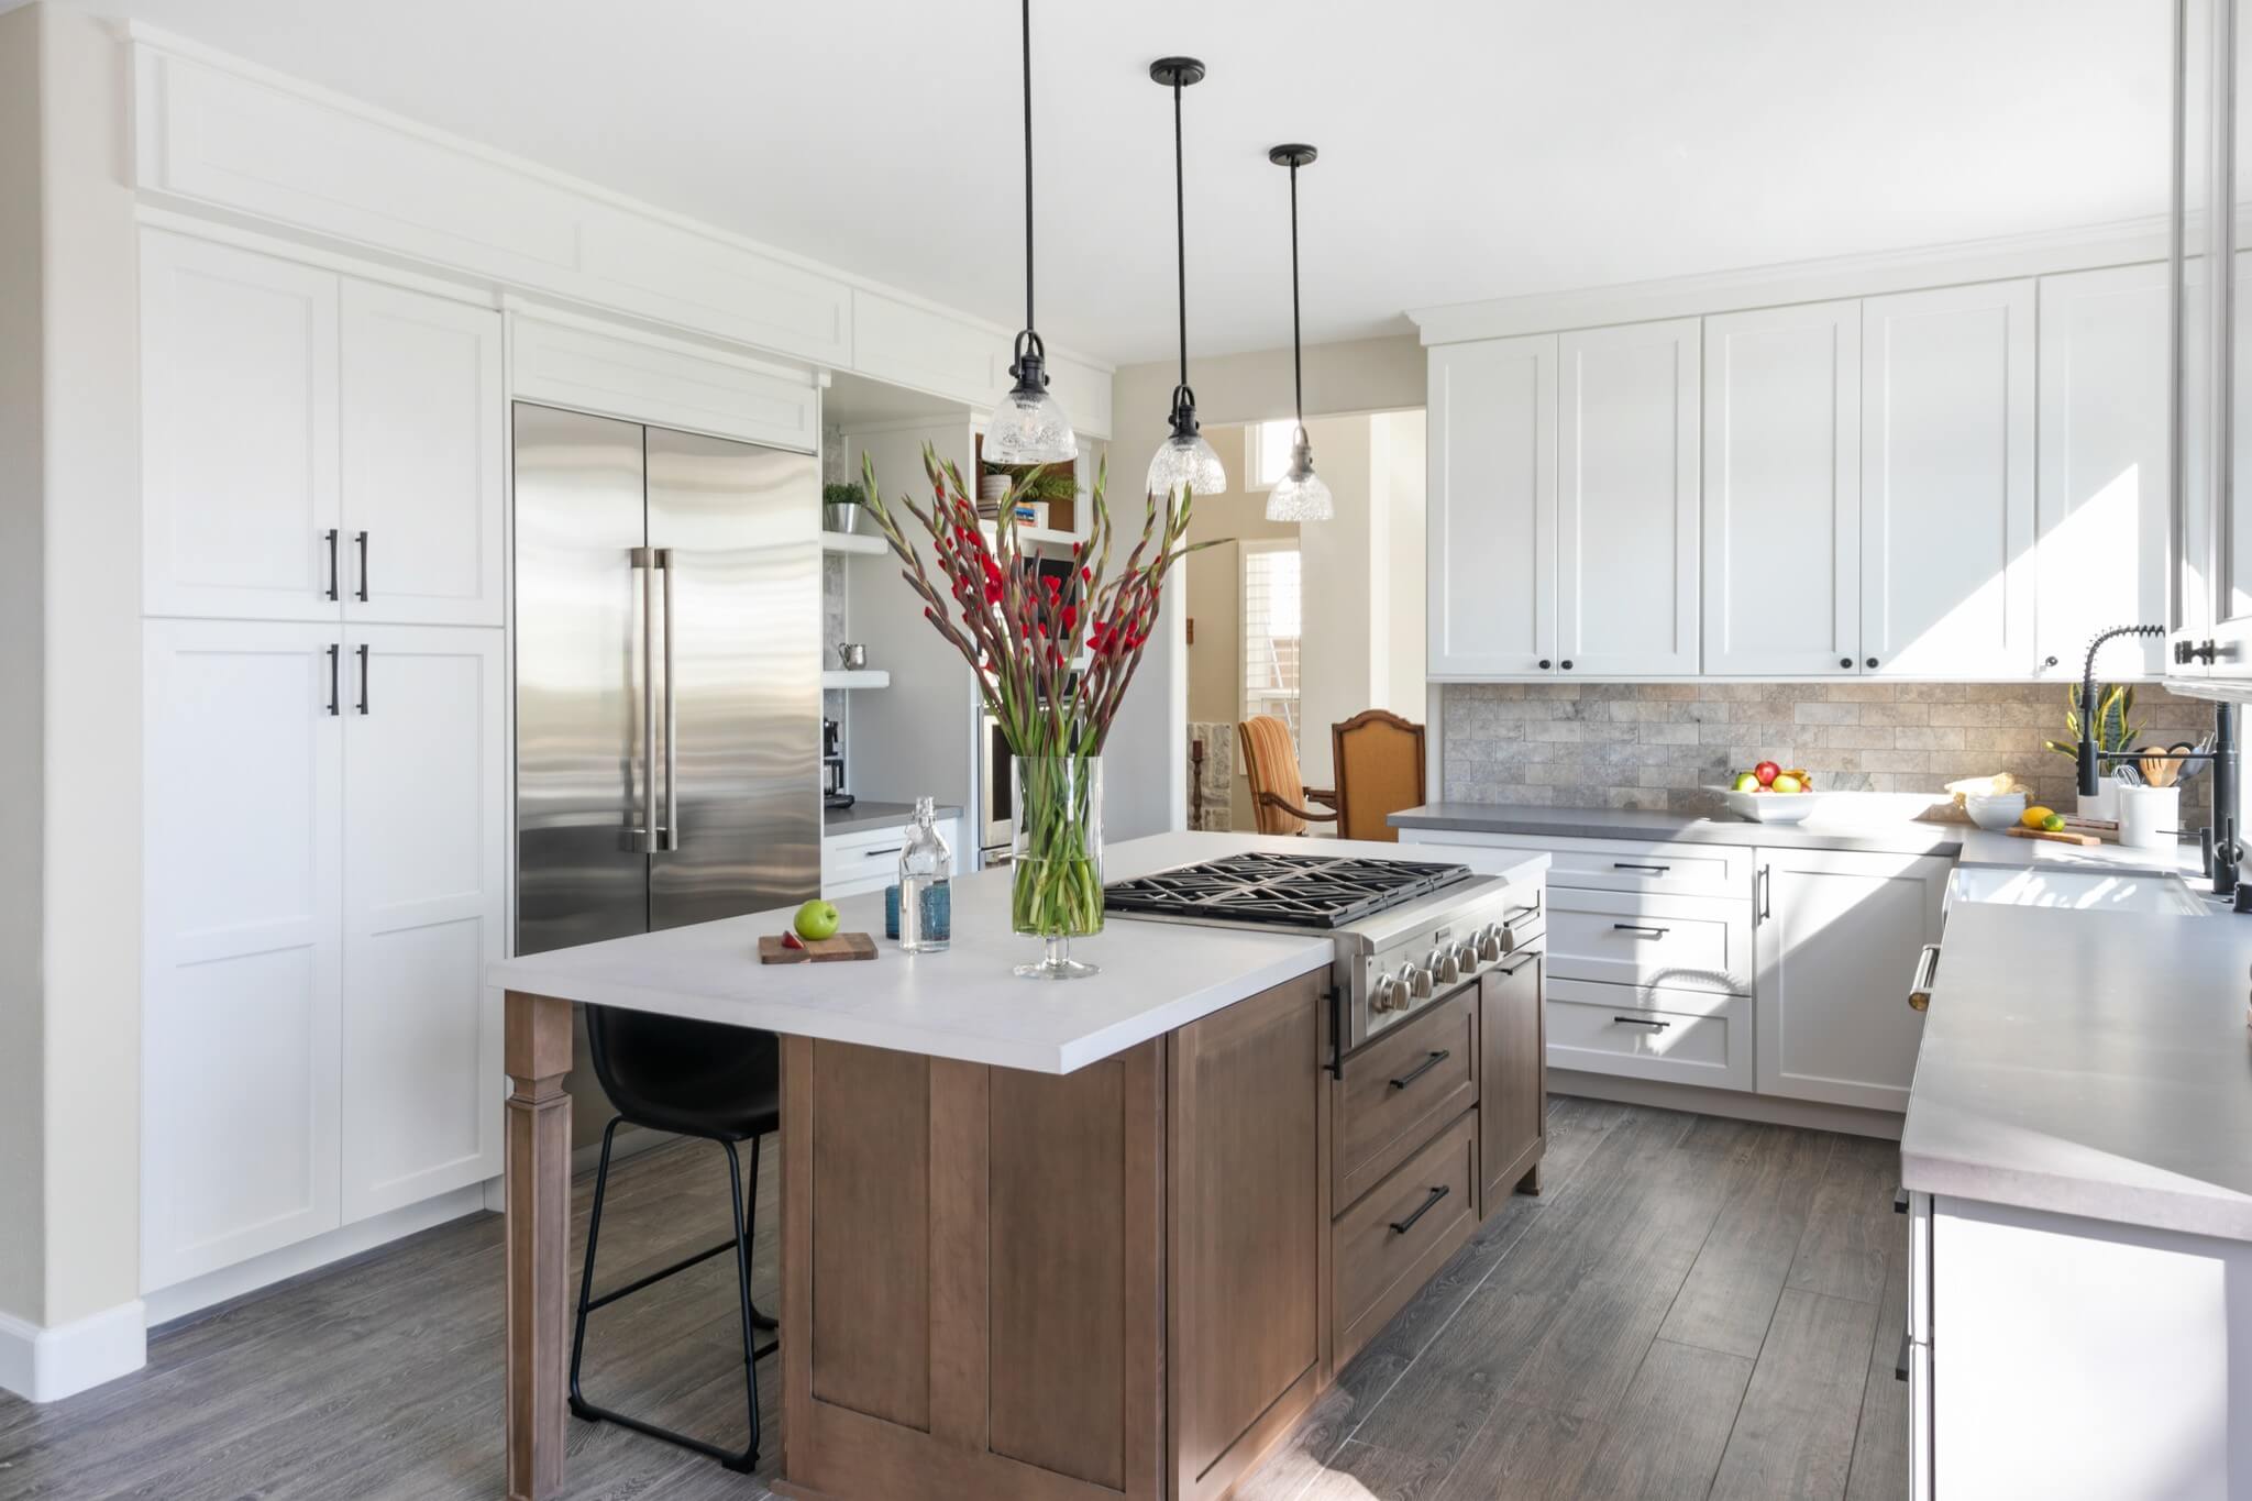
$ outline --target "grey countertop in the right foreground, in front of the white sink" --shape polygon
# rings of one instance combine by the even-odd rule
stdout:
[[[1964,907],[1907,1188],[2252,1240],[2252,918]]]

